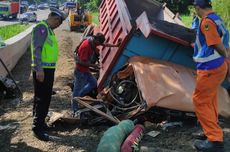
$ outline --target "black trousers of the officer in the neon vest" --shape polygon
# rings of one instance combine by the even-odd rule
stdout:
[[[45,118],[48,114],[52,96],[55,69],[44,69],[44,81],[36,79],[36,72],[33,72],[34,84],[34,105],[33,105],[33,131],[42,131],[45,125]]]

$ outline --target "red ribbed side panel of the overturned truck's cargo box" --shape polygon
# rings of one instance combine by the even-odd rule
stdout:
[[[132,30],[129,12],[123,0],[103,0],[100,5],[100,31],[105,34],[106,42],[116,44],[118,39],[123,40],[123,44],[128,39],[128,34]],[[99,88],[102,87],[106,75],[115,64],[115,56],[119,56],[122,48],[102,48],[100,53],[102,69],[100,71]]]

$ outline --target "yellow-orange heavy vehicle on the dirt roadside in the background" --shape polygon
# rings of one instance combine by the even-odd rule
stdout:
[[[70,31],[84,31],[88,25],[92,24],[92,15],[83,13],[79,15],[75,9],[69,11]]]

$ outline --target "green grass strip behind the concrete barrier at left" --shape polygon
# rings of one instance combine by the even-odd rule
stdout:
[[[30,25],[14,24],[0,27],[0,37],[3,40],[7,40],[23,31],[25,31]]]

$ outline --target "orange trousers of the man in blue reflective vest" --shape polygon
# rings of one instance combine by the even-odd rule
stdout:
[[[197,70],[197,83],[193,93],[196,116],[209,141],[223,141],[218,125],[218,87],[227,74],[227,64],[212,70]]]

